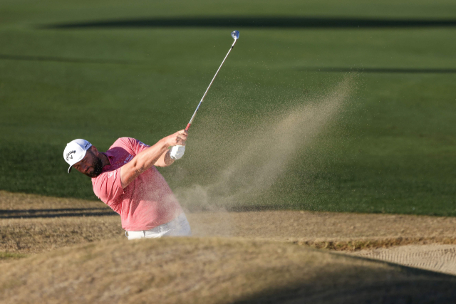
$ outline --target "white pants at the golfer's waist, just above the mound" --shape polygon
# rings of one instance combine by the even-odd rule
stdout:
[[[135,239],[156,239],[162,236],[191,236],[192,229],[187,221],[185,213],[181,213],[180,216],[173,219],[172,221],[152,228],[150,230],[141,231],[125,231],[125,236],[129,240]]]

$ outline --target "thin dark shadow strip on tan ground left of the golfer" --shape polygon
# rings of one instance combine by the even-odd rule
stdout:
[[[66,209],[26,209],[0,210],[0,219],[53,218],[74,216],[113,216],[118,215],[108,208],[66,208]]]

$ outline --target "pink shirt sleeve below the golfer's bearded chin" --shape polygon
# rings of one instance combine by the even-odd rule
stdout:
[[[123,188],[120,183],[120,168],[104,172],[95,179],[93,192],[103,203],[118,212],[118,204],[123,200]]]

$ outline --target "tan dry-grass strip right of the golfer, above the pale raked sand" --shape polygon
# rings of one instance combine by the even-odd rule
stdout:
[[[363,243],[456,243],[456,218],[309,211],[250,211],[189,214],[198,236],[237,236],[295,241],[316,246]],[[371,245],[366,244],[371,242]],[[320,244],[321,243],[321,244]],[[330,247],[331,248],[331,247]],[[345,246],[342,249],[356,249]]]

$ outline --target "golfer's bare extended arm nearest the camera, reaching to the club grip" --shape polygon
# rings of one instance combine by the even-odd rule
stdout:
[[[148,147],[133,157],[130,162],[123,165],[120,168],[120,183],[122,184],[122,188],[125,189],[139,174],[152,167],[163,154],[168,152],[169,147],[185,145],[187,134],[187,131],[180,130],[162,138],[155,145]]]

